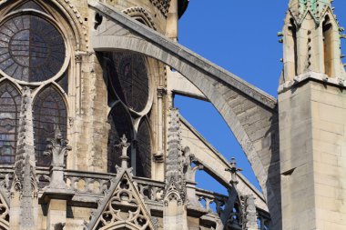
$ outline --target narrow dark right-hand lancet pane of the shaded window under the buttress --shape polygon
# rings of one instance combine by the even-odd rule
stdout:
[[[151,142],[150,130],[146,122],[142,122],[137,133],[136,175],[151,177]]]

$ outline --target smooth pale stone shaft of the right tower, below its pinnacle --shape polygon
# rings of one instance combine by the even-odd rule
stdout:
[[[283,229],[344,229],[346,94],[307,82],[279,95]]]

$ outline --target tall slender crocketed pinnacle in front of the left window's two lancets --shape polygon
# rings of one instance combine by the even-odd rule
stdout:
[[[15,153],[15,175],[11,189],[10,221],[19,221],[21,230],[36,229],[37,184],[31,90],[24,88]],[[19,206],[18,206],[19,205]],[[19,212],[16,212],[18,210]],[[20,215],[15,217],[15,215]],[[18,223],[11,223],[11,226]]]

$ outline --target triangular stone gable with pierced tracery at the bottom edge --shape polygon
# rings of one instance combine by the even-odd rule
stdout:
[[[93,213],[89,230],[155,229],[129,169],[120,169],[106,196]]]

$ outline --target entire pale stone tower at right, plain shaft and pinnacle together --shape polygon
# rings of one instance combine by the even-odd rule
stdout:
[[[291,0],[279,87],[282,229],[345,229],[346,73],[330,0]]]

